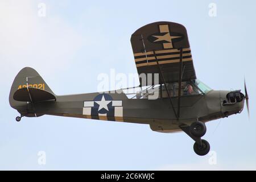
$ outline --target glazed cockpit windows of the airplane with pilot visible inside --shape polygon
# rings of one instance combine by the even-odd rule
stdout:
[[[168,93],[170,97],[177,97],[179,94],[179,83],[168,83],[166,86],[162,85],[150,85],[143,86],[137,88],[127,88],[122,89],[123,93],[130,99],[157,99],[157,98],[166,98],[168,97],[168,93],[166,92],[166,88],[168,89]],[[205,85],[200,80],[190,80],[181,82],[181,96],[192,96],[192,95],[203,95],[207,94],[211,88]]]

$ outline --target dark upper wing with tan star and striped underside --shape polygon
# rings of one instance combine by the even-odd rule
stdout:
[[[131,46],[139,75],[162,72],[164,80],[159,77],[160,83],[178,82],[182,55],[181,81],[196,79],[187,30],[183,25],[173,22],[147,24],[131,35]],[[141,86],[144,86],[142,82]]]

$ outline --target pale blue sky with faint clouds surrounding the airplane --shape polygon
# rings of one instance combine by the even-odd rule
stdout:
[[[209,16],[212,2],[216,16]],[[39,3],[46,16],[38,15]],[[255,1],[0,0],[0,169],[256,169],[255,7]],[[160,20],[187,28],[205,84],[244,92],[246,77],[250,121],[243,110],[207,123],[203,138],[216,164],[197,156],[186,134],[147,125],[47,115],[15,121],[8,99],[20,69],[36,69],[55,94],[96,92],[100,73],[137,73],[130,36]]]

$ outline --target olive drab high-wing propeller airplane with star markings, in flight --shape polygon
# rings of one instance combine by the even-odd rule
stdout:
[[[11,86],[9,102],[21,117],[44,114],[64,117],[143,123],[153,131],[184,131],[195,140],[193,150],[206,155],[210,150],[205,122],[241,113],[248,95],[240,90],[213,90],[197,79],[185,27],[172,22],[155,22],[131,35],[131,46],[138,74],[159,74],[151,87],[140,80],[138,92],[131,97],[121,93],[86,93],[57,96],[34,69],[23,68]],[[151,79],[152,80],[152,79]],[[158,92],[148,99],[150,90]],[[156,89],[158,88],[158,89]],[[120,90],[119,90],[120,91]]]

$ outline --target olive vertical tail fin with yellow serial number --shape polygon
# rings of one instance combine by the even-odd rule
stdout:
[[[23,88],[27,87],[44,90],[55,96],[55,94],[52,92],[43,78],[38,74],[38,72],[36,72],[33,68],[26,67],[20,70],[18,75],[16,75],[14,78],[13,85],[11,85],[11,91],[9,95],[9,103],[11,107],[17,109],[17,107],[24,105],[24,101],[18,101],[17,99],[14,99],[14,93],[16,90],[23,90]]]

